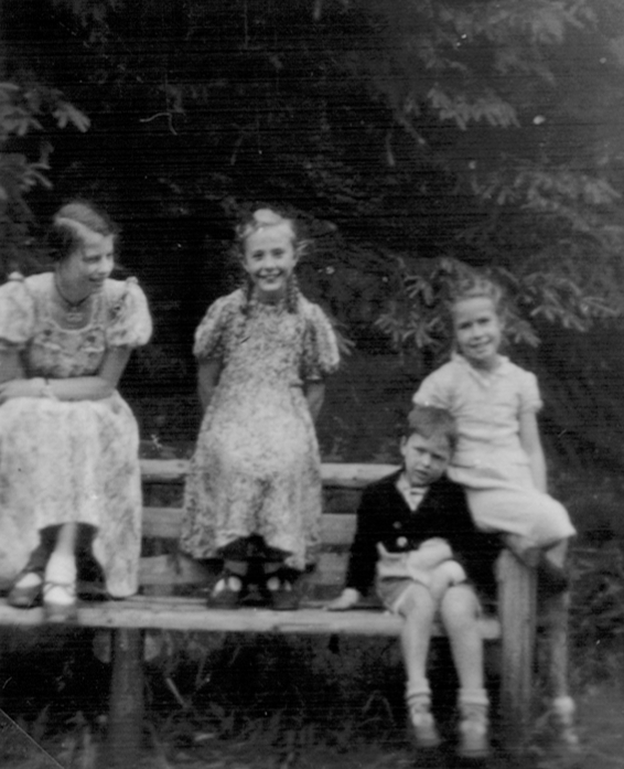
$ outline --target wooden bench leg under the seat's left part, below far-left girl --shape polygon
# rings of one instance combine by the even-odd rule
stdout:
[[[143,631],[112,632],[112,677],[105,765],[137,766],[143,736]]]

